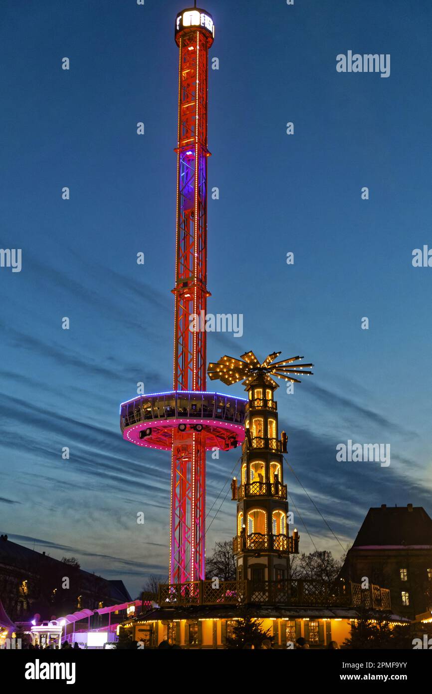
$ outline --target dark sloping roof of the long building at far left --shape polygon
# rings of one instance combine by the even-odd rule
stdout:
[[[9,539],[4,539],[4,536],[0,537],[0,565],[12,566],[15,568],[20,568],[26,570],[30,573],[37,573],[38,566],[59,566],[62,562],[59,559],[54,559],[54,557],[49,557],[43,552],[36,552],[23,545],[18,545]],[[92,585],[94,582],[95,575],[80,569],[80,574],[83,577],[83,582]],[[126,586],[123,581],[111,581],[103,577],[96,577],[101,579],[105,583],[107,598],[114,600],[115,602],[130,602],[131,598],[126,590]]]

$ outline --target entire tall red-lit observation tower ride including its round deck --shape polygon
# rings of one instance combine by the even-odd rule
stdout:
[[[236,448],[245,436],[245,400],[205,392],[207,80],[213,40],[213,19],[205,10],[195,7],[176,17],[180,56],[173,391],[138,396],[121,405],[124,439],[171,450],[171,584],[205,577],[205,452]]]

